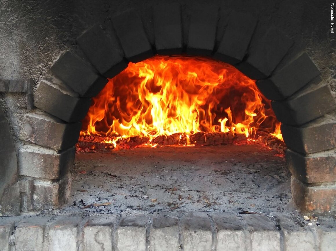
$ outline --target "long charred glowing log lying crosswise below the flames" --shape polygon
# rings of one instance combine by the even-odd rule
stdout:
[[[189,136],[189,135],[188,135]],[[233,142],[246,141],[244,134],[235,134],[233,132],[197,132],[189,136],[185,133],[174,133],[169,136],[159,135],[152,141],[152,145],[187,145],[192,144],[196,146],[202,145],[217,145],[217,144],[231,144]],[[115,149],[112,143],[104,143],[108,141],[109,137],[102,136],[80,136],[76,144],[77,151],[96,152],[96,151],[110,151]],[[130,137],[121,138],[116,142],[116,148],[129,149],[139,147],[143,144],[150,143],[149,137]]]

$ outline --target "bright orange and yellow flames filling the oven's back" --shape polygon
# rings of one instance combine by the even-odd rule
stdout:
[[[129,63],[93,98],[81,135],[116,144],[132,136],[260,129],[282,139],[280,122],[255,81],[223,62],[155,56]]]

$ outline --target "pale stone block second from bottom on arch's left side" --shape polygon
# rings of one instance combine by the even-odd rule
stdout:
[[[27,145],[19,150],[19,175],[58,179],[68,173],[75,159],[75,147],[57,151]]]

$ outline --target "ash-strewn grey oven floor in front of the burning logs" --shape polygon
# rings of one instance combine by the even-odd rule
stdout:
[[[284,156],[256,143],[79,153],[71,172],[62,212],[293,211]]]

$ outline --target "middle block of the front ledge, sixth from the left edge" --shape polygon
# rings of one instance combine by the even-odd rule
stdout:
[[[178,251],[178,219],[172,217],[155,217],[151,229],[151,250]]]

